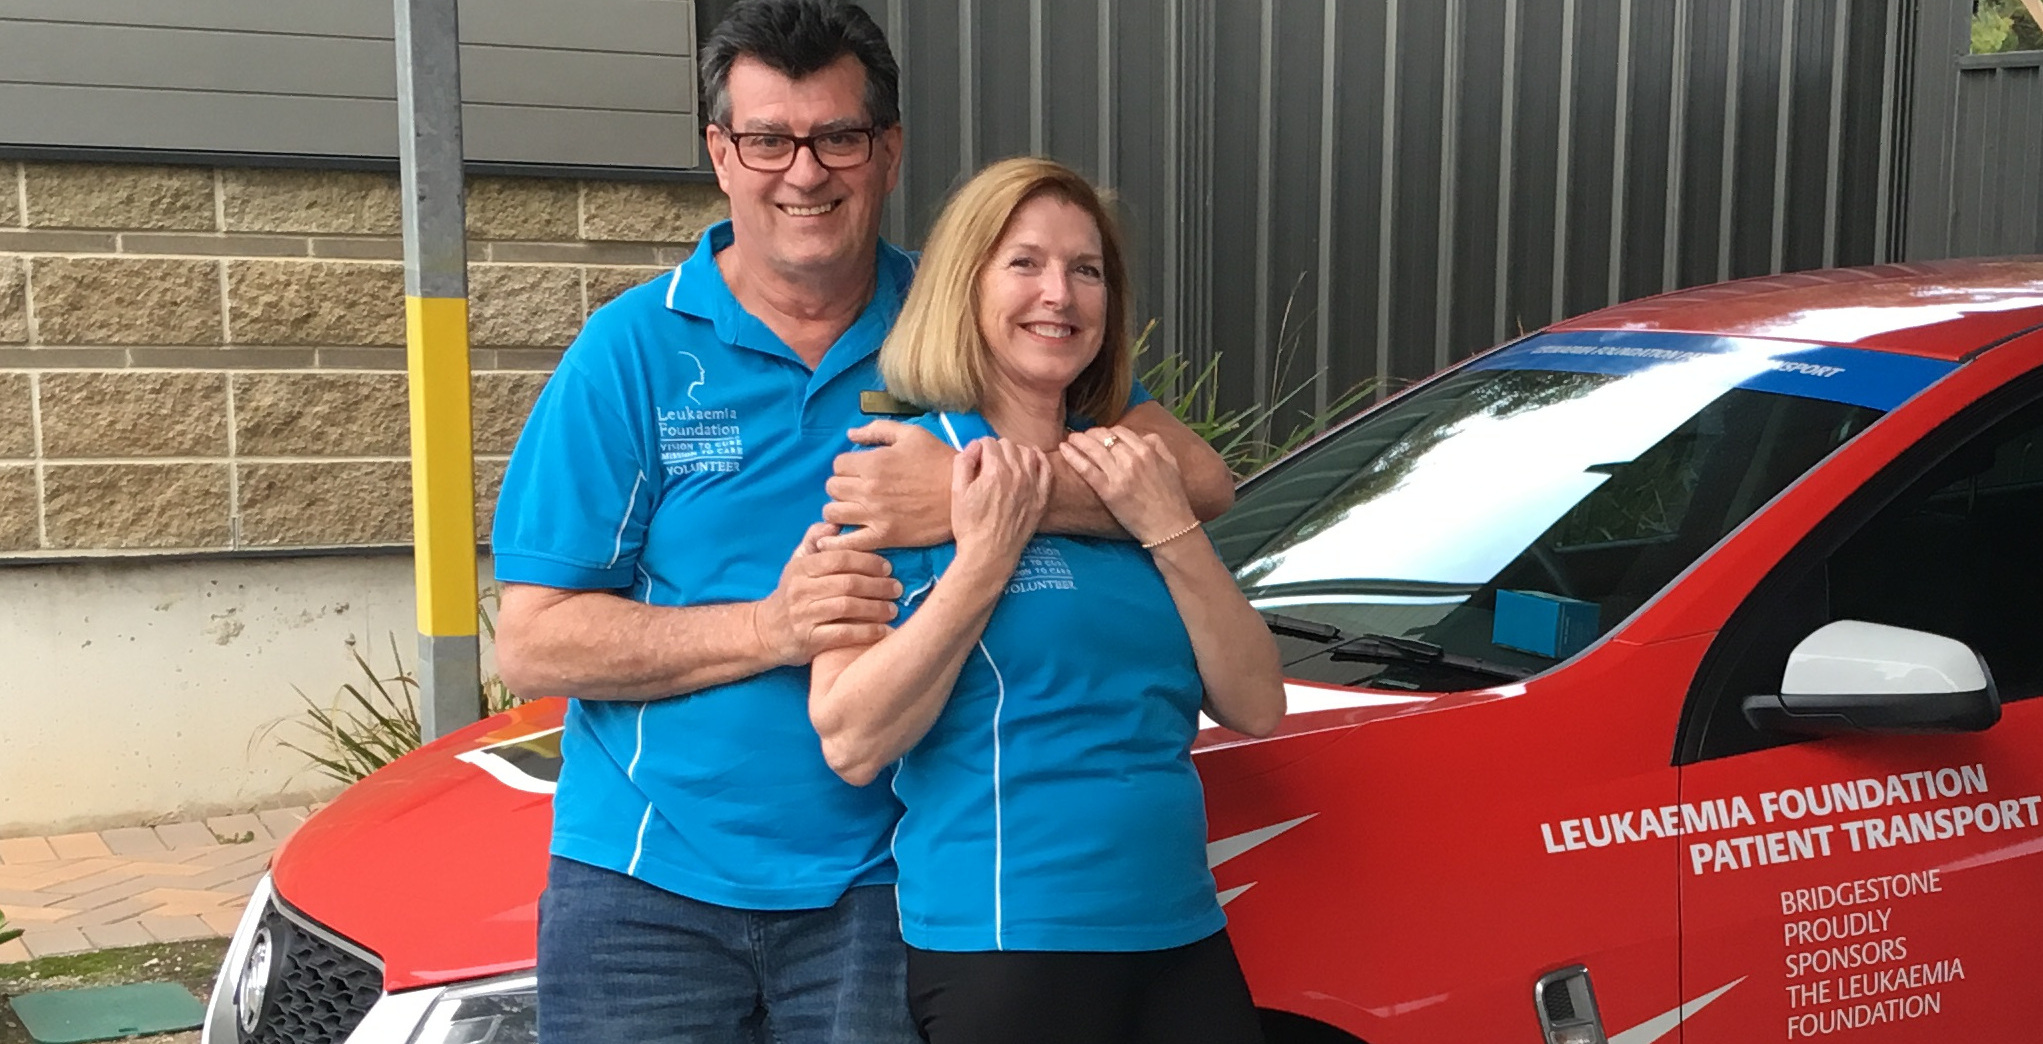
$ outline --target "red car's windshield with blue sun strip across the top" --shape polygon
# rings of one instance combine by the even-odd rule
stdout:
[[[1549,333],[1248,482],[1211,527],[1287,674],[1457,691],[1616,627],[1953,364],[1669,333]]]

